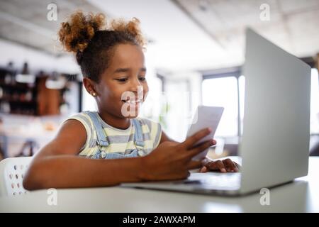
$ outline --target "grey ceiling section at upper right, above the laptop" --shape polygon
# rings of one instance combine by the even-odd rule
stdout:
[[[174,0],[229,56],[243,55],[250,26],[281,48],[308,57],[319,51],[318,0]],[[269,21],[260,14],[269,6]],[[238,56],[238,57],[240,57]]]

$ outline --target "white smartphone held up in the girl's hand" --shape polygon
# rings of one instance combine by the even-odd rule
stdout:
[[[211,128],[212,131],[209,135],[206,135],[201,140],[198,140],[195,145],[198,143],[203,143],[206,140],[211,140],[216,132],[218,123],[221,116],[223,115],[224,108],[221,106],[198,106],[194,119],[189,126],[189,131],[187,132],[186,137],[188,138],[194,133],[200,131],[203,128]],[[206,157],[208,149],[203,150],[203,152],[193,157],[193,160],[201,160],[203,157]]]

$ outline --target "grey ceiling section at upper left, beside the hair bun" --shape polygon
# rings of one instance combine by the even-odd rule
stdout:
[[[47,20],[51,3],[57,5],[57,21]],[[57,31],[74,9],[99,11],[84,0],[0,0],[0,38],[59,56]]]

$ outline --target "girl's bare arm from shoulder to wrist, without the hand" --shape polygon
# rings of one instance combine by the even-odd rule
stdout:
[[[99,187],[119,182],[136,182],[142,177],[140,157],[120,160],[92,160],[79,157],[86,131],[77,120],[66,121],[57,136],[35,155],[23,187]]]

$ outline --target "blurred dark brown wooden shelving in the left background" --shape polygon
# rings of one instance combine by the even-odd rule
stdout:
[[[70,82],[77,82],[76,75],[62,74],[67,84],[62,89],[48,89],[45,82],[50,76],[43,72],[36,75],[32,84],[16,82],[16,72],[0,68],[0,112],[46,116],[60,114],[60,106],[67,104],[64,94]]]

